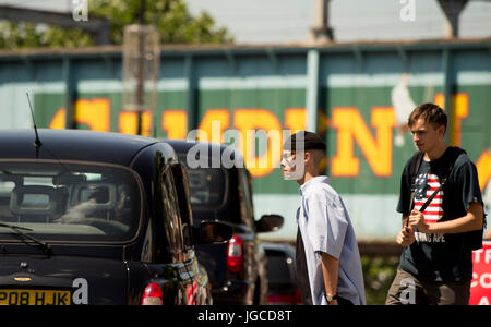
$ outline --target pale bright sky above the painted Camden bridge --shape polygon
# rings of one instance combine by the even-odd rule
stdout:
[[[83,0],[0,0],[0,4],[70,12],[74,1]],[[314,0],[184,1],[192,14],[207,11],[219,26],[229,29],[237,44],[304,43],[313,25]],[[403,21],[400,13],[411,1],[414,21]],[[332,0],[330,10],[337,41],[444,36],[444,16],[436,0]],[[460,36],[491,36],[491,1],[469,2],[460,17]]]

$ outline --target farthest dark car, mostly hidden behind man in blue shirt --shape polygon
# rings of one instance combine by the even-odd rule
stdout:
[[[263,243],[267,256],[267,304],[302,304],[297,286],[295,249],[283,243]]]

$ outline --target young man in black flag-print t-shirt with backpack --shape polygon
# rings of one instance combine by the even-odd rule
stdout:
[[[444,142],[446,123],[445,112],[433,104],[418,106],[409,117],[423,158],[414,178],[414,158],[403,171],[397,243],[404,251],[386,304],[468,304],[471,252],[482,243],[483,203],[476,166],[464,150]]]

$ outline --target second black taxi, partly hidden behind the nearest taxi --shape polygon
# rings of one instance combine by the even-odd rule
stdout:
[[[265,304],[266,257],[258,233],[277,230],[283,217],[254,219],[252,180],[240,153],[218,144],[167,141],[187,165],[195,223],[216,219],[233,228],[228,244],[199,245],[196,255],[212,282],[214,303]]]

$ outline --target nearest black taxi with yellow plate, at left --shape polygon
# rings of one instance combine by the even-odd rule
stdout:
[[[172,147],[38,132],[0,131],[0,304],[209,304],[194,242],[231,229],[193,227]]]

